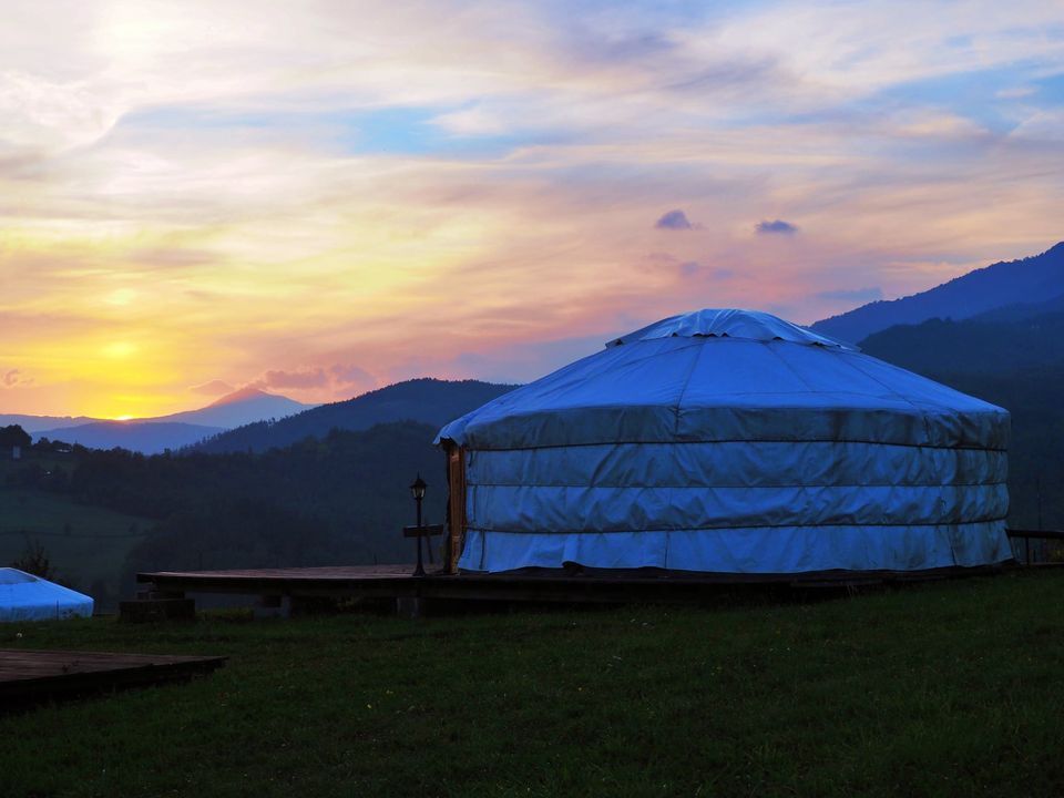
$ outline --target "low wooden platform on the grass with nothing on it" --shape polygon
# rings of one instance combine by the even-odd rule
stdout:
[[[191,678],[226,657],[0,648],[0,712],[25,702]]]

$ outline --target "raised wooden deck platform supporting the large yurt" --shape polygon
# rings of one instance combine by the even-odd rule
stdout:
[[[147,595],[237,594],[288,602],[300,598],[392,598],[565,603],[700,602],[737,590],[852,590],[992,573],[998,569],[941,569],[919,573],[706,574],[638,571],[564,573],[529,569],[502,574],[412,575],[412,565],[161,571],[139,573]],[[275,604],[276,606],[277,604]]]

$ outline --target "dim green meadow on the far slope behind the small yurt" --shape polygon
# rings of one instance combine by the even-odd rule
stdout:
[[[125,557],[143,540],[129,536],[130,530],[135,525],[143,533],[153,524],[147,519],[76,504],[62,494],[0,482],[0,565],[16,560],[29,542],[40,542],[60,577],[80,590],[99,581],[111,595],[119,594]]]

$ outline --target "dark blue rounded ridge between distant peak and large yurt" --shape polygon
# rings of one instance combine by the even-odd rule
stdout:
[[[346,401],[321,405],[279,421],[260,421],[222,432],[192,451],[262,452],[305,438],[323,438],[329,430],[365,430],[374,424],[413,421],[434,427],[463,416],[516,386],[479,380],[450,381],[422,378],[397,382]],[[429,437],[431,440],[431,436]]]

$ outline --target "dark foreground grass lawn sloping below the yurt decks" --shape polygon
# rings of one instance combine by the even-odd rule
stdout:
[[[1042,573],[811,605],[0,626],[231,657],[0,716],[0,794],[1058,795],[1062,605]]]

